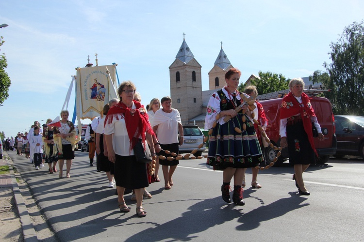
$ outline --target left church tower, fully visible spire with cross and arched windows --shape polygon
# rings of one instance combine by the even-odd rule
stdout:
[[[176,60],[169,66],[169,81],[172,107],[180,112],[182,124],[187,124],[201,114],[202,81],[201,65],[188,47],[184,33]]]

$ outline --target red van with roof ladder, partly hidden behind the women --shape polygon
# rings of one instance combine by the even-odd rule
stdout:
[[[309,95],[308,93],[306,93]],[[325,140],[319,141],[318,138],[314,138],[314,145],[319,155],[316,163],[324,164],[329,160],[330,155],[336,152],[336,136],[335,136],[335,122],[331,109],[331,103],[327,98],[310,96],[311,104],[314,108],[317,121],[321,126],[322,134],[325,136]],[[270,141],[277,147],[279,147],[281,136],[280,130],[280,108],[282,98],[275,98],[265,101],[260,101],[263,105],[265,116],[268,119],[268,125],[265,130],[266,135]],[[268,163],[272,162],[276,157],[277,151],[271,147],[265,148],[265,158]],[[283,149],[281,156],[278,158],[277,164],[284,162],[284,159],[288,158],[288,149]]]

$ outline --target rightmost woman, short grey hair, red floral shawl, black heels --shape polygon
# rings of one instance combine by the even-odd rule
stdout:
[[[280,109],[280,136],[281,147],[288,147],[289,163],[294,165],[296,186],[300,195],[308,196],[303,182],[302,173],[315,163],[317,155],[314,147],[312,123],[317,129],[318,139],[324,140],[320,124],[317,122],[314,109],[309,97],[303,92],[304,82],[302,78],[294,78],[289,82],[290,92],[281,103]]]

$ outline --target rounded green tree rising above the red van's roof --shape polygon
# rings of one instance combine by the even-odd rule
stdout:
[[[250,85],[257,87],[258,95],[288,89],[289,81],[282,74],[259,71],[258,76],[250,80]],[[245,83],[241,83],[238,90],[242,92],[245,87]]]

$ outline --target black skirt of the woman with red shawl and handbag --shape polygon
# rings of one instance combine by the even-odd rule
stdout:
[[[139,189],[149,186],[147,166],[136,161],[135,155],[121,156],[115,154],[116,186]]]

